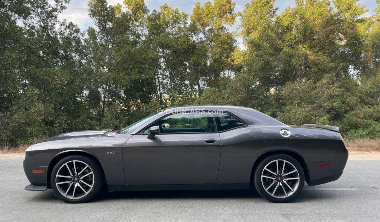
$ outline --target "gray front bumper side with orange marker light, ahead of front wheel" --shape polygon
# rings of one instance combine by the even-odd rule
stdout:
[[[34,157],[30,154],[30,152],[31,151],[25,152],[25,160],[23,162],[25,175],[30,182],[30,185],[25,187],[25,190],[28,191],[32,190],[34,186],[46,187],[47,180],[47,167],[41,167],[37,165]],[[41,190],[41,188],[38,190]]]

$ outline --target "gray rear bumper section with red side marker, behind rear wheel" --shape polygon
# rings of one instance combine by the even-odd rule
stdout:
[[[342,176],[344,167],[348,159],[348,150],[344,146],[342,140],[338,140],[338,149],[333,161],[323,162],[308,162],[309,181],[306,181],[309,186],[335,181]],[[318,167],[318,165],[331,164],[330,167]]]

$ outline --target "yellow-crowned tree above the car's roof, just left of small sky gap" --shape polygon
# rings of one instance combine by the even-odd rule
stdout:
[[[234,71],[230,57],[236,49],[236,40],[226,27],[235,23],[234,7],[231,0],[214,0],[214,5],[206,2],[203,6],[197,2],[190,16],[192,31],[200,37],[199,44],[206,43],[208,47],[206,74],[199,79],[203,77],[209,87],[218,87],[222,74],[231,76]]]

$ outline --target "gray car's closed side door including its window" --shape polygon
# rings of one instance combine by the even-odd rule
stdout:
[[[160,134],[148,139],[148,129]],[[133,135],[123,147],[128,185],[214,184],[221,143],[212,113],[175,113]]]

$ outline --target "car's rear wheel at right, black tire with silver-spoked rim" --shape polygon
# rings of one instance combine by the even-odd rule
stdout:
[[[285,171],[282,173],[281,172],[282,164],[284,163],[286,164],[284,167]],[[277,168],[276,165],[280,165],[278,167],[279,169],[277,170],[277,172],[279,172],[280,175],[272,174],[272,173],[277,173],[273,170]],[[271,168],[272,170],[269,169],[271,170],[271,172],[269,172],[268,170],[264,170],[266,166],[272,167]],[[285,175],[287,174],[287,171],[288,172],[293,171],[291,170],[291,168],[293,167],[297,170],[297,172]],[[271,178],[276,178],[276,179],[271,179],[271,178],[266,178],[266,177],[262,178],[263,175],[269,176]],[[299,179],[292,179],[292,178],[297,178],[297,177]],[[302,170],[301,165],[299,164],[298,161],[296,161],[296,159],[285,154],[274,154],[272,156],[266,157],[259,163],[259,165],[256,167],[254,171],[253,182],[255,184],[255,188],[257,192],[262,197],[274,203],[288,203],[294,200],[294,198],[296,198],[301,193],[302,188],[304,187],[304,183],[305,183],[305,176],[304,176],[304,171]],[[279,188],[278,190],[275,190],[277,189],[276,186],[277,188]],[[266,191],[266,188],[268,189],[268,191]]]

